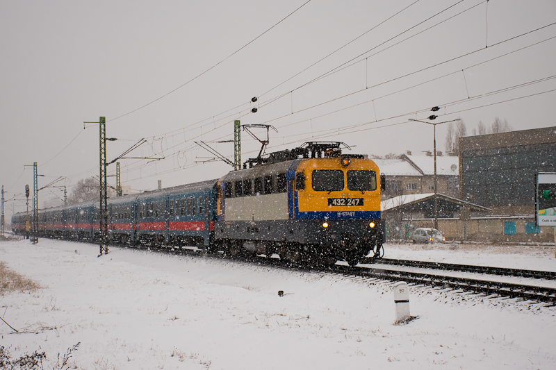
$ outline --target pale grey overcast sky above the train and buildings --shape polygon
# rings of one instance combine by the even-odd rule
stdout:
[[[195,141],[233,159],[216,142],[233,138],[234,119],[272,124],[268,151],[341,141],[375,155],[432,150],[432,126],[407,119],[433,106],[469,135],[495,117],[556,126],[554,22],[554,0],[3,0],[0,185],[6,199],[32,187],[33,162],[39,187],[64,176],[56,185],[71,192],[97,176],[99,127],[83,121],[100,116],[118,138],[108,160],[142,138],[129,156],[165,158],[120,160],[133,190],[223,176],[231,167],[202,164],[213,155]],[[259,143],[242,135],[246,160]],[[42,190],[40,206],[56,196]],[[7,217],[13,207],[24,203],[8,202]]]

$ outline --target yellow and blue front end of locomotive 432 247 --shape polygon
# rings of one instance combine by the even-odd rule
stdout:
[[[377,165],[362,155],[302,160],[292,216],[305,224],[321,254],[357,264],[382,246],[380,186]]]

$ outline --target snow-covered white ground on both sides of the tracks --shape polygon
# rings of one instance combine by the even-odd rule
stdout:
[[[556,271],[554,249],[387,245],[386,258]],[[0,261],[42,285],[0,296],[13,355],[81,342],[79,369],[555,369],[556,308],[198,255],[40,239]],[[278,296],[279,290],[284,296]],[[35,333],[32,333],[35,332]],[[47,368],[47,367],[45,367]]]

